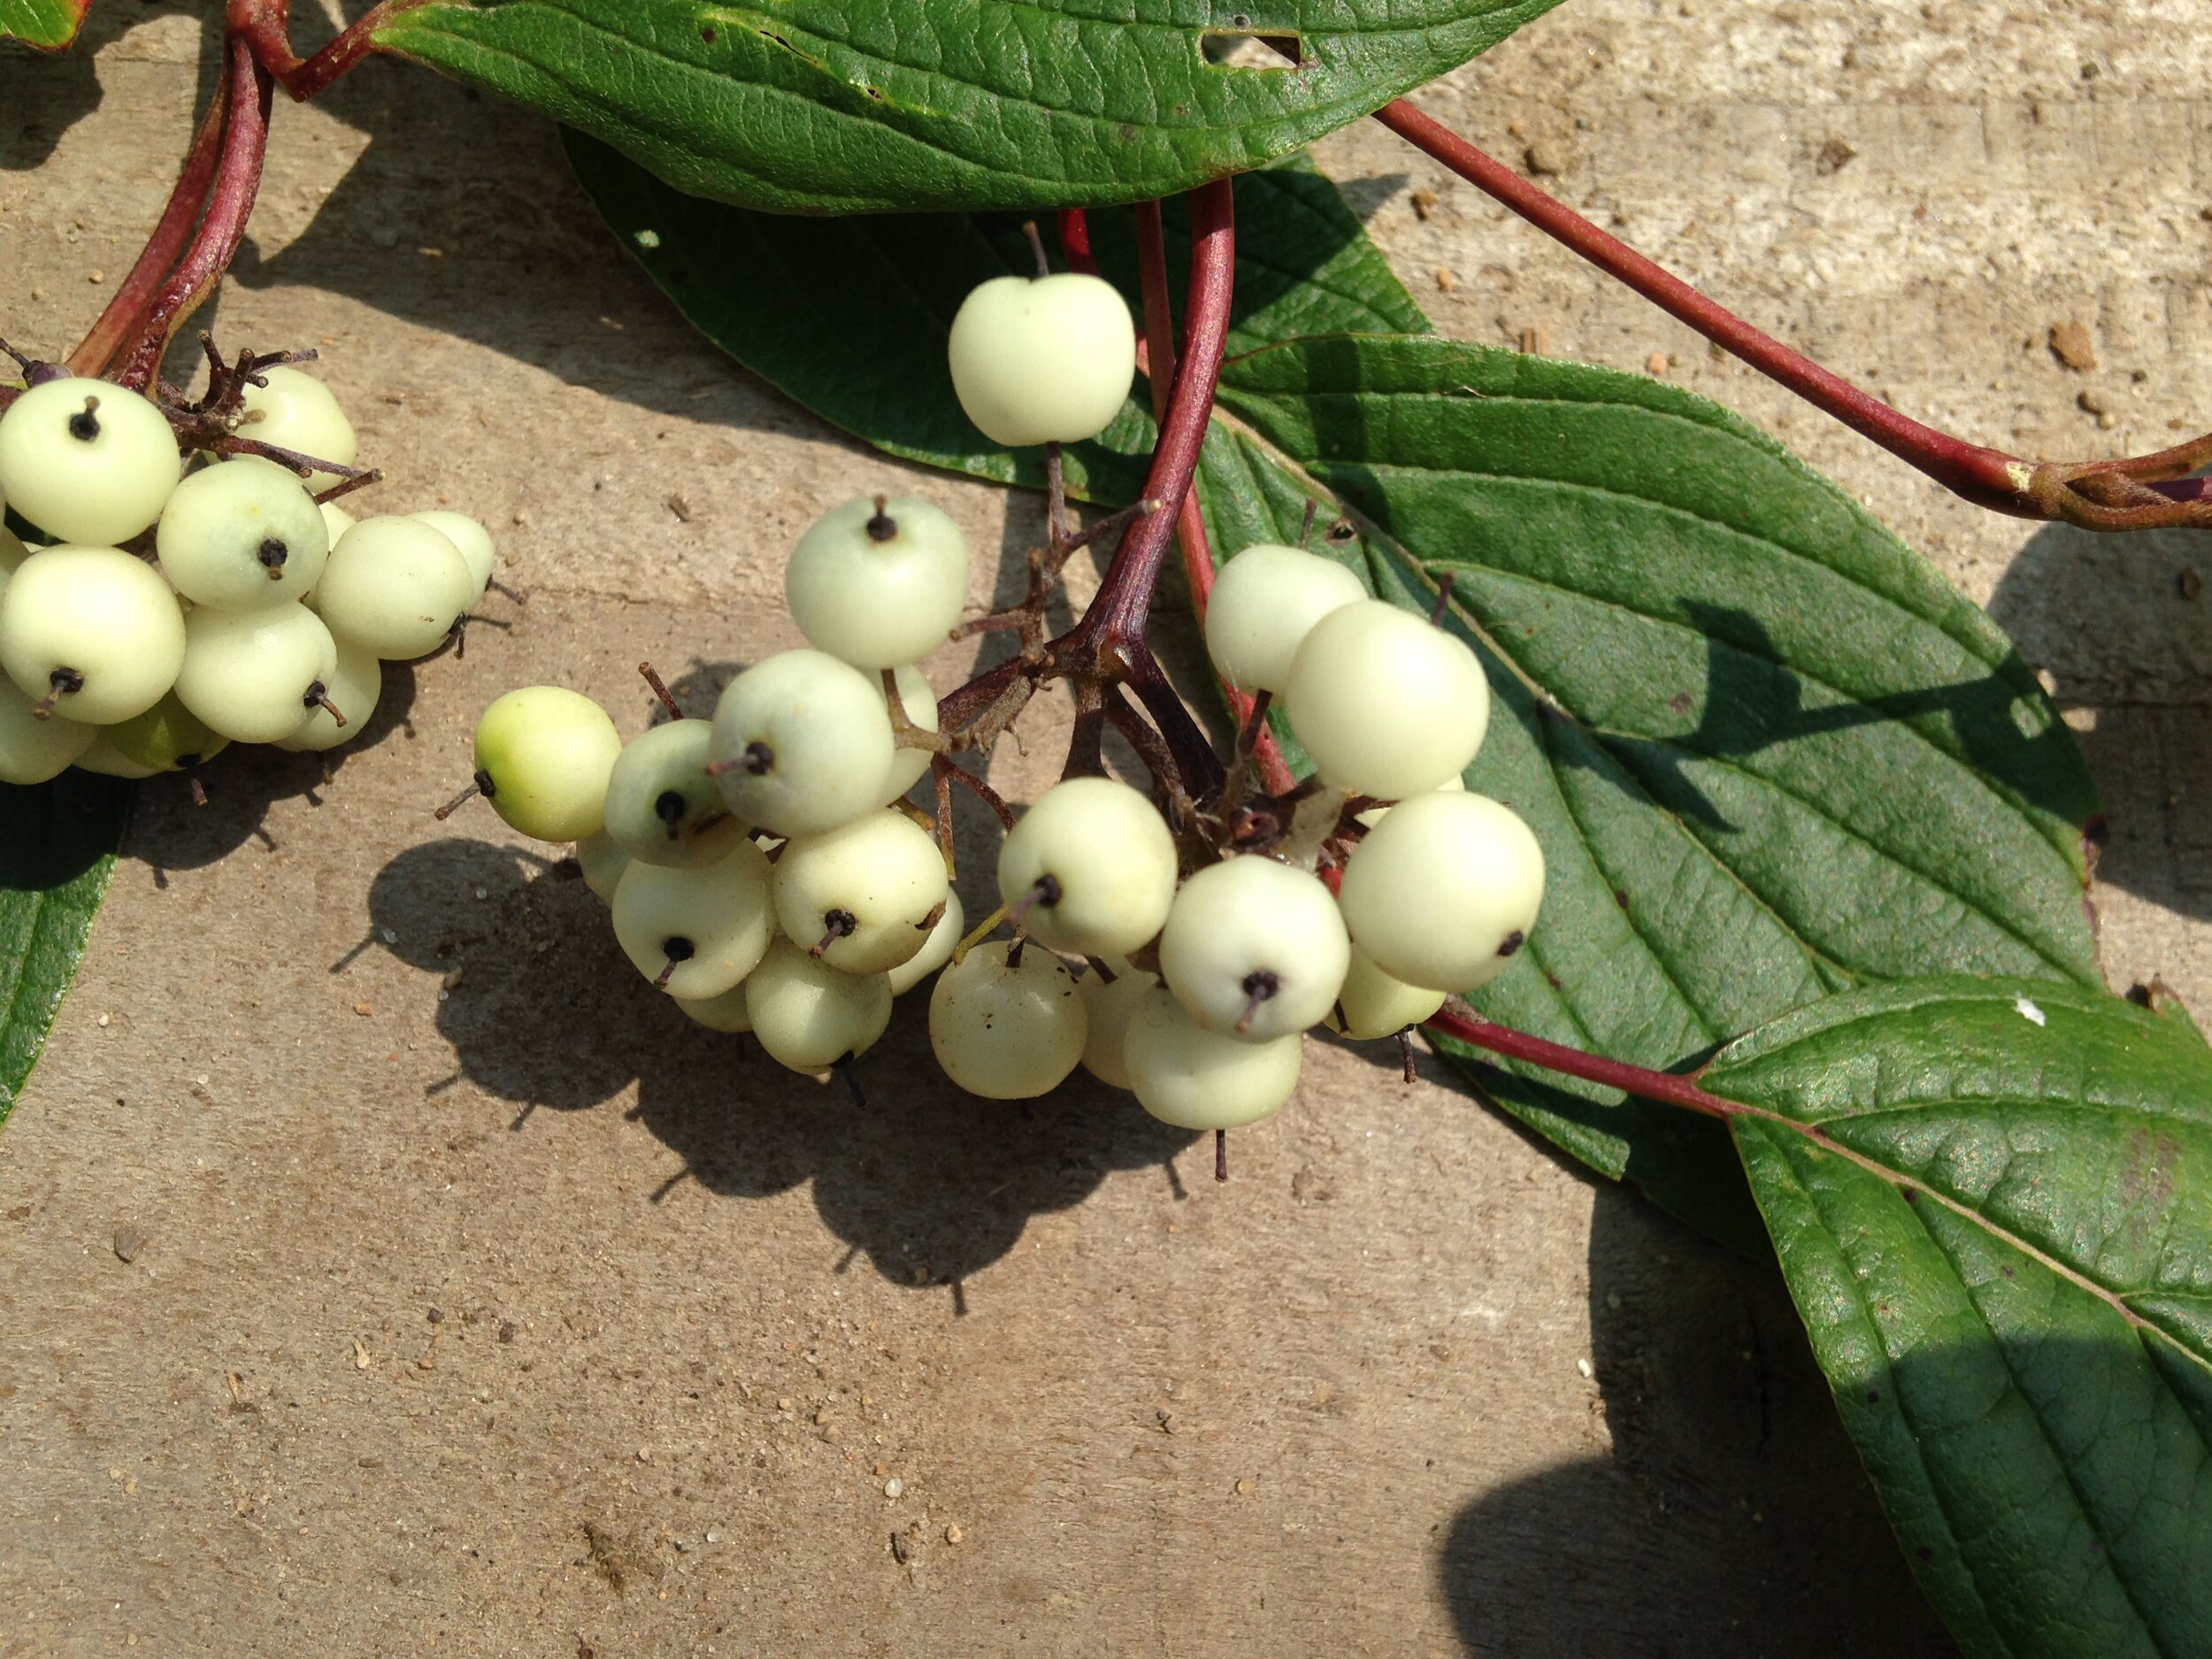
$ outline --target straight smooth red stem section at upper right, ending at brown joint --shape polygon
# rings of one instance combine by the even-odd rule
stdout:
[[[1659,310],[1688,323],[1714,345],[1734,352],[1761,374],[1781,380],[1863,438],[1918,467],[1944,489],[2000,513],[2044,518],[2026,491],[2031,471],[2013,456],[1969,445],[1902,416],[1880,398],[1860,392],[1807,356],[1734,316],[1681,276],[1663,270],[1617,237],[1608,237],[1573,208],[1555,201],[1509,166],[1491,159],[1438,119],[1398,100],[1376,111],[1376,119],[1418,150],[1442,161],[1478,190],[1495,197],[1548,237],[1573,248],[1601,272],[1626,283]]]

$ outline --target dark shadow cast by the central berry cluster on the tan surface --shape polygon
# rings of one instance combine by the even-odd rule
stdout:
[[[670,688],[688,703],[684,679]],[[1082,1203],[1115,1170],[1168,1166],[1194,1139],[1086,1075],[1037,1102],[962,1095],[929,1055],[927,984],[852,1066],[858,1097],[843,1077],[790,1073],[646,984],[571,860],[511,845],[438,841],[394,858],[369,887],[367,938],[332,971],[365,949],[445,982],[438,1033],[456,1068],[434,1095],[467,1084],[526,1135],[540,1110],[606,1110],[635,1088],[626,1115],[684,1161],[653,1203],[681,1181],[728,1199],[812,1183],[847,1245],[838,1272],[865,1261],[958,1296],[1033,1214]]]

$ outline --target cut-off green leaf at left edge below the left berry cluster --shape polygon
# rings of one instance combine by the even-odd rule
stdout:
[[[77,973],[128,807],[128,785],[88,772],[0,785],[0,1124]]]

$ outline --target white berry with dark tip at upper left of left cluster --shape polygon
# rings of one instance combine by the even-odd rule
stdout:
[[[168,416],[106,380],[49,380],[0,414],[0,495],[55,542],[128,542],[181,473]]]

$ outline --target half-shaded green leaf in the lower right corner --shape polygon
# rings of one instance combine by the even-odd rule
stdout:
[[[2212,1051],[2033,980],[1840,995],[1730,1046],[1814,1352],[1969,1655],[2212,1652]]]

